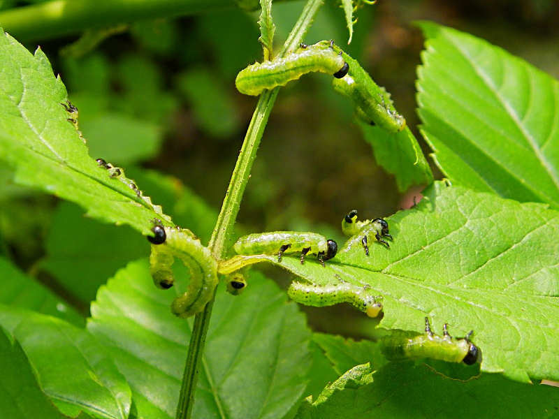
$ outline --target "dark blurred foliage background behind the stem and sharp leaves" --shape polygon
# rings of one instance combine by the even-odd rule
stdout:
[[[39,1],[0,0],[0,10],[25,3]],[[302,8],[302,1],[274,4],[276,45]],[[25,45],[41,45],[61,75],[79,108],[92,157],[126,168],[176,223],[207,241],[256,104],[235,90],[234,80],[240,69],[261,60],[257,17],[229,9],[137,22],[82,57],[65,48],[78,36]],[[357,17],[353,42],[346,46],[342,10],[326,1],[305,42],[332,38],[361,61],[391,92],[417,138],[414,82],[423,39],[414,20],[468,31],[559,76],[554,0],[379,0]],[[305,75],[280,92],[241,205],[240,232],[313,230],[342,242],[340,221],[349,210],[373,218],[402,206],[393,176],[377,166],[354,124],[349,101],[329,84],[326,75]],[[82,313],[99,284],[149,252],[145,239],[129,228],[84,219],[77,206],[10,179],[10,171],[0,168],[0,253]],[[318,330],[361,335],[363,316],[348,322],[354,310],[308,313]]]

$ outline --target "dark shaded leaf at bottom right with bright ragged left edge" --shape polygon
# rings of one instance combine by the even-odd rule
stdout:
[[[412,362],[391,362],[372,378],[368,364],[354,367],[315,402],[305,400],[296,418],[451,418],[457,401],[471,417],[547,418],[559,402],[549,385],[515,383],[500,374],[460,381]]]

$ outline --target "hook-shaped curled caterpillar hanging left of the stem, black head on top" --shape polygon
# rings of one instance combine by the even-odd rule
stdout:
[[[147,240],[152,243],[150,272],[154,284],[164,289],[173,286],[171,267],[175,258],[182,260],[189,268],[190,284],[186,293],[173,300],[171,311],[179,317],[194,316],[212,298],[218,281],[217,261],[190,230],[157,224],[152,232],[154,236],[148,236]]]

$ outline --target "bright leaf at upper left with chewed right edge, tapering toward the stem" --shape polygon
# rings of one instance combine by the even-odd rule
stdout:
[[[66,89],[47,57],[31,55],[0,33],[0,159],[15,168],[15,181],[37,186],[112,223],[129,224],[147,235],[152,219],[170,218],[150,198],[138,196],[124,175],[110,177],[87,154],[68,112]]]

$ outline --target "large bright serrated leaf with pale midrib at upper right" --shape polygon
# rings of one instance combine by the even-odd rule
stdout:
[[[559,208],[559,82],[474,36],[420,23],[417,101],[454,184]]]

